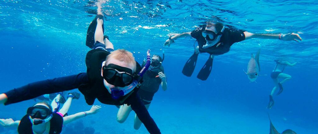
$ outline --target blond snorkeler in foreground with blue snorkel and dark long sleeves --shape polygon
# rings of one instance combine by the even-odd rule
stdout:
[[[79,88],[79,91],[85,96],[87,104],[93,105],[96,98],[109,105],[128,104],[149,133],[161,133],[137,94],[142,75],[150,66],[149,51],[147,52],[147,63],[143,68],[135,61],[133,54],[127,50],[119,49],[112,53],[105,51],[106,47],[104,48],[98,43],[104,42],[103,19],[104,17],[99,13],[90,24],[96,26],[94,44],[99,46],[93,46],[92,48],[96,49],[90,50],[86,54],[87,73],[38,81],[15,88],[0,94],[0,104],[8,105],[39,95]],[[94,23],[95,21],[96,23]]]

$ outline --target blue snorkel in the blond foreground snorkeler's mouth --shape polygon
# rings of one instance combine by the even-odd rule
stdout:
[[[140,83],[140,79],[142,78],[143,74],[146,73],[146,71],[148,70],[150,66],[150,50],[147,51],[147,62],[146,65],[144,67],[142,67],[141,71],[137,74],[137,78],[135,79],[130,85],[121,88],[121,90],[118,90],[116,88],[111,88],[111,94],[112,94],[112,98],[114,100],[118,100],[121,96],[127,95],[129,92],[131,92],[135,87],[139,87]]]

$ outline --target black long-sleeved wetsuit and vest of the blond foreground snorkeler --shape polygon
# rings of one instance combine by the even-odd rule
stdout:
[[[111,94],[104,86],[104,79],[100,74],[102,62],[105,61],[108,54],[108,52],[100,49],[89,51],[86,55],[87,73],[33,82],[23,87],[10,90],[5,93],[8,96],[5,105],[29,100],[44,94],[52,94],[79,88],[79,91],[85,96],[87,104],[93,105],[97,98],[104,104],[131,105],[131,108],[135,111],[149,133],[161,133],[155,121],[151,118],[148,110],[142,103],[136,88],[128,93],[128,95],[122,96],[119,100],[112,99]],[[139,66],[137,67],[137,71],[138,69],[141,70],[140,65],[137,65]]]

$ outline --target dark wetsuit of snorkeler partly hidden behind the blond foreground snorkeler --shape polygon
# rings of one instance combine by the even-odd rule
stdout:
[[[164,73],[163,67],[160,66],[157,71],[147,71],[143,75],[143,82],[138,90],[138,94],[142,99],[143,104],[148,105],[152,101],[155,93],[158,91],[162,80],[156,77],[159,72]]]

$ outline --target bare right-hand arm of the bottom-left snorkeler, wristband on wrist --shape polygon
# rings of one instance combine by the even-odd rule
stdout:
[[[101,108],[101,106],[93,105],[92,108],[89,111],[79,112],[79,113],[76,113],[76,114],[73,114],[73,115],[70,115],[70,116],[63,117],[63,125],[65,125],[67,123],[70,123],[72,121],[75,121],[75,120],[77,120],[79,118],[82,118],[82,117],[85,117],[85,116],[88,116],[88,115],[96,114],[96,113],[99,112],[100,108]]]

